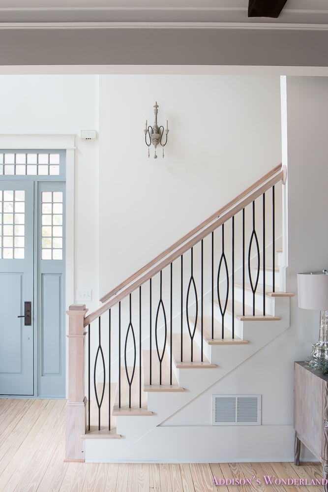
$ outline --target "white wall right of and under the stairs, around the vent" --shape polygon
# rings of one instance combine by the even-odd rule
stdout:
[[[164,426],[210,425],[210,396],[227,393],[262,394],[263,425],[293,425],[294,361],[306,360],[319,333],[319,311],[298,308],[297,273],[328,267],[328,79],[288,77],[287,110],[290,328]],[[289,446],[292,459],[292,434]]]

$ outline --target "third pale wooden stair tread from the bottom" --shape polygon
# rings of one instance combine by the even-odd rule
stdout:
[[[144,391],[147,392],[183,392],[183,388],[179,388],[176,376],[172,371],[172,384],[170,384],[170,355],[167,352],[170,349],[166,345],[165,354],[162,361],[162,384],[159,384],[160,364],[157,355],[157,350],[151,351],[151,384],[150,384],[150,350],[143,350],[143,371],[144,371]],[[160,352],[161,354],[161,352]]]

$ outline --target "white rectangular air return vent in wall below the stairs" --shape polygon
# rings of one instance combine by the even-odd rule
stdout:
[[[212,395],[212,426],[260,426],[261,395]]]

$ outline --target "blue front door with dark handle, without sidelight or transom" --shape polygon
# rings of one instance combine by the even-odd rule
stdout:
[[[34,183],[0,182],[0,394],[34,394]],[[25,303],[31,303],[30,320]],[[30,321],[30,324],[29,324]]]

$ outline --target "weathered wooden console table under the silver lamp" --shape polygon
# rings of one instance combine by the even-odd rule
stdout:
[[[321,461],[328,479],[328,376],[306,369],[304,362],[294,363],[294,430],[294,463],[299,465],[302,442]]]

